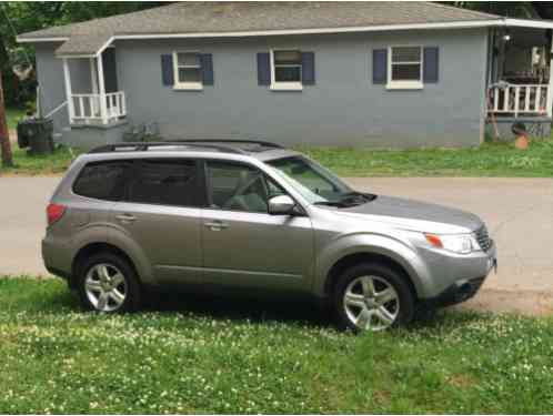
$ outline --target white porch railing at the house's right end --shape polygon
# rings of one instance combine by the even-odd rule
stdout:
[[[547,84],[496,84],[487,90],[487,112],[551,116],[551,100]]]

